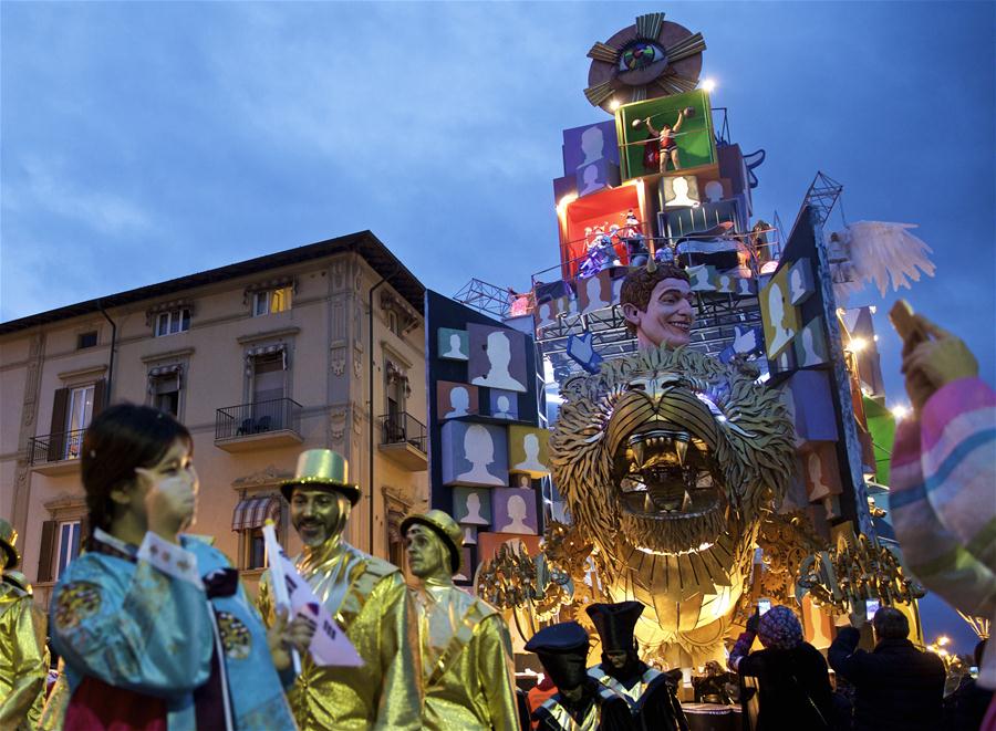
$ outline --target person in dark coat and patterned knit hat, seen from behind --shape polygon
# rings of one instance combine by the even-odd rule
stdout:
[[[755,636],[765,649],[748,651]],[[786,606],[747,620],[729,655],[729,669],[757,678],[756,731],[823,731],[834,728],[830,672],[820,651],[802,637],[802,625]]]

